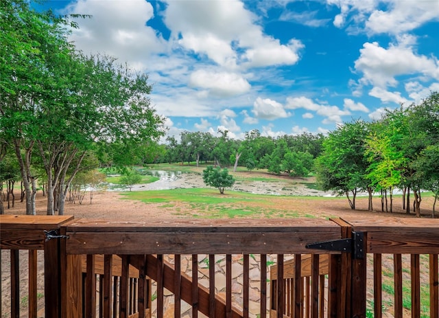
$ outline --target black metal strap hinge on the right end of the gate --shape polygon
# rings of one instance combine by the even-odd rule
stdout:
[[[364,233],[352,232],[352,238],[330,240],[327,242],[316,242],[305,245],[307,249],[324,249],[325,251],[341,251],[352,253],[353,258],[364,258]]]

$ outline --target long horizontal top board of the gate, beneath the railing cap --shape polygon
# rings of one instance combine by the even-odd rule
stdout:
[[[340,229],[313,232],[176,233],[176,232],[69,232],[67,253],[87,254],[194,254],[194,253],[324,253],[306,249],[309,242],[340,238]],[[340,253],[340,252],[333,252]]]

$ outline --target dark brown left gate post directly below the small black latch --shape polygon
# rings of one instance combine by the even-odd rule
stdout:
[[[60,239],[53,238],[44,243],[44,297],[46,318],[60,315]]]

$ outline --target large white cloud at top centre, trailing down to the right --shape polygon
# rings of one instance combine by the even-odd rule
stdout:
[[[169,1],[165,11],[165,23],[182,47],[204,54],[222,67],[296,63],[302,43],[291,39],[283,45],[265,35],[256,21],[237,0]]]

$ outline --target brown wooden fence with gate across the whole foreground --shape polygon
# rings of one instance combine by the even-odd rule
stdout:
[[[407,315],[403,305],[407,273],[403,273],[402,255],[409,255],[411,260],[410,315],[421,317],[425,296],[420,293],[422,274],[429,277],[428,315],[439,317],[439,222],[434,219],[122,222],[73,220],[67,216],[0,216],[0,237],[1,249],[10,250],[10,262],[2,260],[2,264],[10,265],[11,277],[10,290],[0,295],[10,299],[10,313],[0,308],[2,317],[23,315],[20,249],[29,251],[27,317],[37,316],[38,249],[44,251],[45,260],[45,317],[162,318],[165,313],[169,315],[169,308],[165,308],[167,293],[174,297],[173,317],[182,317],[183,303],[190,306],[193,318],[366,317],[370,304],[371,314],[383,317],[381,271],[382,255],[387,253],[394,255],[394,317]],[[200,254],[208,255],[207,286],[199,282]],[[215,277],[218,254],[226,255],[224,291],[219,291]],[[427,273],[421,273],[420,254],[428,255]],[[174,264],[166,262],[165,255],[173,255]],[[182,273],[184,255],[191,255],[189,274]],[[242,255],[240,299],[233,299],[233,271],[237,271],[234,255]],[[250,308],[253,286],[249,264],[253,255],[260,260],[257,313]],[[272,255],[276,264],[268,271],[267,261]],[[284,261],[285,255],[293,260]],[[372,286],[368,286],[366,275],[370,265]],[[152,281],[156,286],[154,313]]]

